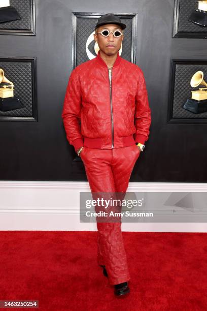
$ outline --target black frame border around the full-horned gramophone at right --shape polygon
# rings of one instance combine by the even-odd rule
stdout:
[[[207,123],[207,118],[172,118],[176,65],[207,65],[207,60],[188,60],[188,59],[171,59],[170,75],[169,75],[169,95],[168,95],[168,109],[167,109],[167,123]]]

